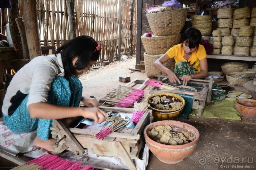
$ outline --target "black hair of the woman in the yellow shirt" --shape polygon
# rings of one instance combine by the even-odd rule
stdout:
[[[194,47],[198,48],[201,39],[202,39],[201,32],[194,27],[189,27],[181,37],[181,44],[183,44],[184,42],[187,43],[188,41],[188,47],[190,49]]]

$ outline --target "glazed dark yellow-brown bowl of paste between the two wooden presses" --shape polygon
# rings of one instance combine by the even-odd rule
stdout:
[[[152,116],[159,119],[177,118],[186,104],[183,97],[174,93],[156,93],[148,96]]]

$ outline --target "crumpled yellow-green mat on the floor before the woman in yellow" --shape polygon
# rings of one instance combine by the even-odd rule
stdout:
[[[201,116],[197,116],[198,110],[192,109],[190,115],[203,118],[223,118],[239,121],[242,115],[236,110],[235,98],[229,97],[222,101],[214,101],[213,104],[204,107]]]

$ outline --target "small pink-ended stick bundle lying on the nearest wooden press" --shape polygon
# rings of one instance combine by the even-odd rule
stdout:
[[[114,123],[110,124],[109,126],[105,127],[102,131],[97,133],[95,135],[95,138],[98,140],[103,139],[104,137],[108,136],[110,133],[120,129],[121,127],[124,127],[129,122],[127,120],[124,120],[123,118],[119,118]]]

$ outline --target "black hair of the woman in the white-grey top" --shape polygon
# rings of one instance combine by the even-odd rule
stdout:
[[[65,77],[74,76],[75,70],[83,70],[91,60],[97,61],[100,51],[96,49],[98,43],[88,35],[81,35],[69,40],[55,51],[61,54]],[[78,57],[75,66],[72,59]]]

